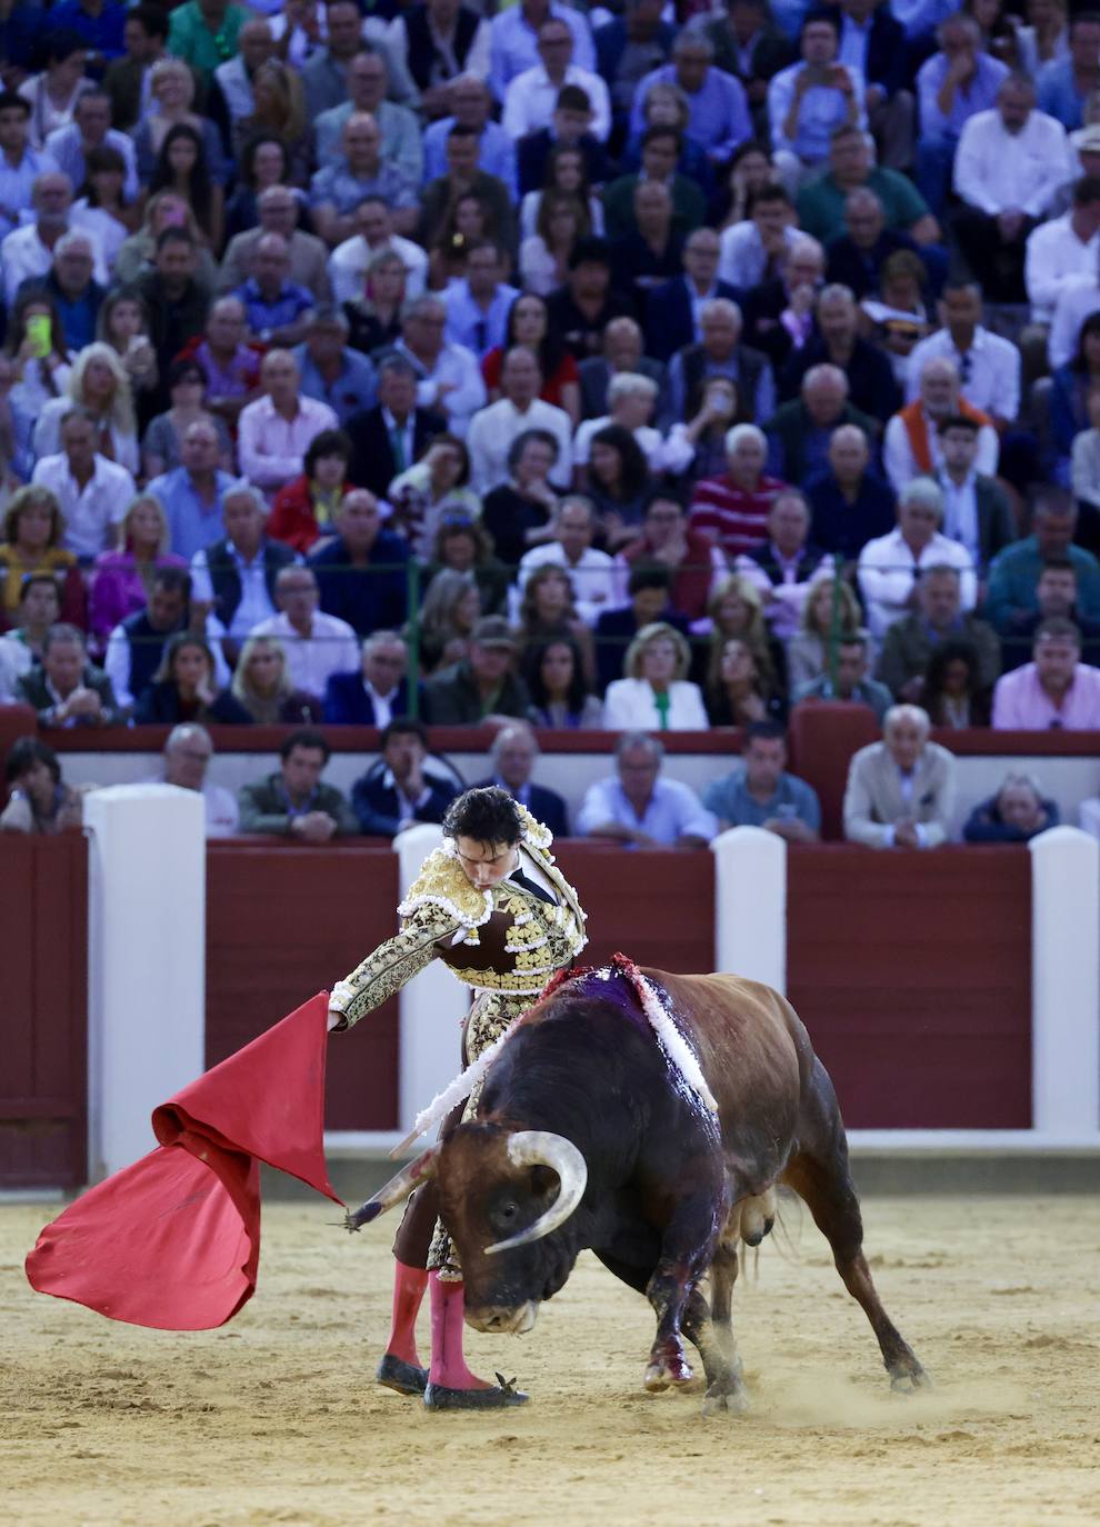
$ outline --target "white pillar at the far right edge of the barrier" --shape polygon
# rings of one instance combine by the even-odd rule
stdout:
[[[1031,838],[1031,1127],[1100,1133],[1100,843]]]

